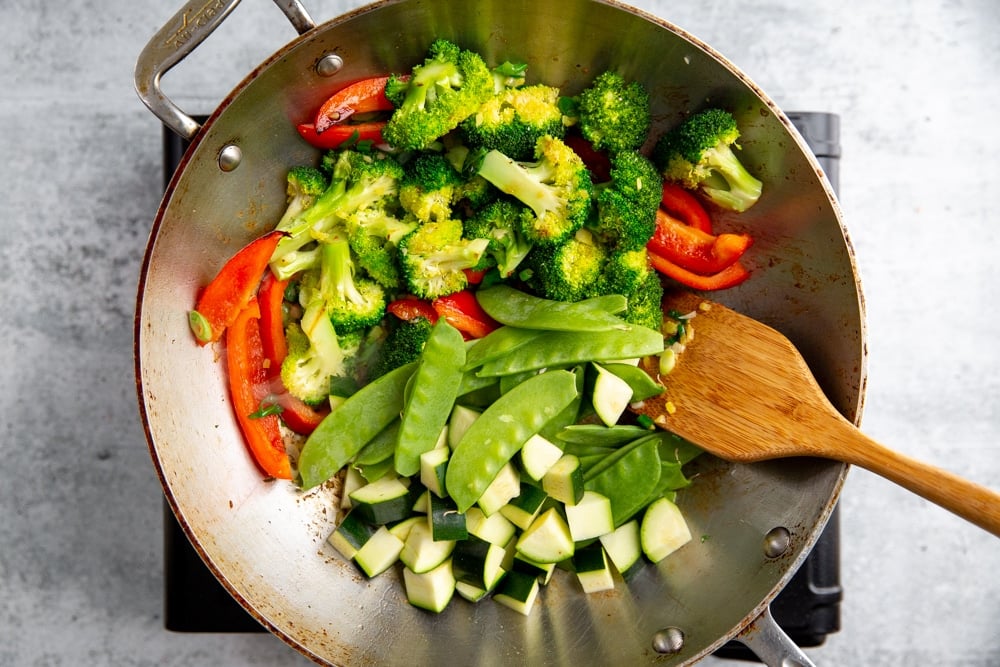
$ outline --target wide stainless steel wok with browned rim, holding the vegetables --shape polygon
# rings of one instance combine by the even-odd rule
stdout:
[[[749,212],[719,219],[755,237],[754,276],[713,298],[789,336],[856,421],[865,347],[851,245],[828,181],[775,103],[694,36],[616,2],[387,1],[317,26],[298,3],[279,1],[299,36],[199,125],[162,93],[160,77],[236,4],[192,1],[150,41],[135,72],[147,106],[192,139],[141,269],[139,407],[169,505],[215,576],[268,630],[325,664],[682,665],[732,638],[770,664],[809,664],[768,605],[829,518],[845,465],[705,457],[678,500],[695,539],[629,584],[586,596],[561,573],[528,617],[459,600],[432,615],[406,604],[394,574],[366,580],[325,543],[335,489],[303,493],[261,478],[241,443],[220,350],[196,346],[186,317],[199,287],[273,226],[287,167],[317,158],[295,124],[345,82],[408,70],[433,38],[448,37],[488,61],[526,61],[532,80],[569,94],[617,68],[649,89],[655,130],[707,104],[731,110],[741,158],[765,189]]]

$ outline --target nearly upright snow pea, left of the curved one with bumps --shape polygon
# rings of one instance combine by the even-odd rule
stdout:
[[[420,470],[420,455],[433,449],[455,405],[465,365],[465,341],[443,317],[431,330],[407,391],[396,440],[396,472]]]

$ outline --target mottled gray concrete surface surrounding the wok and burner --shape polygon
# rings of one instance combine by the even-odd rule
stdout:
[[[163,629],[160,490],[131,356],[160,128],[132,68],[179,4],[0,0],[2,665],[305,664],[269,635]],[[306,4],[325,20],[358,3]],[[640,4],[784,108],[841,114],[864,427],[1000,488],[1000,4]],[[272,3],[247,0],[165,87],[207,111],[293,36]],[[860,470],[842,523],[843,629],[810,651],[817,664],[1000,664],[995,538]]]

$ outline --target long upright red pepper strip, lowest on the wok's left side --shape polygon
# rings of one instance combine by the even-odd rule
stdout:
[[[291,464],[276,415],[251,417],[268,395],[268,375],[260,342],[260,306],[256,297],[226,330],[229,394],[251,455],[269,477],[291,479]]]

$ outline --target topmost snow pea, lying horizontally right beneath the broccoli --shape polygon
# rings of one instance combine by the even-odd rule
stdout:
[[[476,292],[486,313],[501,324],[548,331],[609,331],[628,325],[615,313],[623,312],[628,299],[620,294],[555,301],[533,296],[508,285]]]

